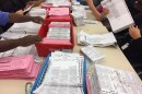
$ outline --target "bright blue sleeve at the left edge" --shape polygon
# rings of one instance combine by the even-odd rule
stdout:
[[[0,25],[5,25],[9,22],[9,13],[0,11]]]

